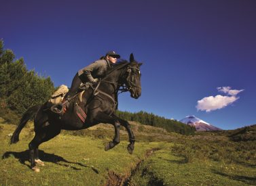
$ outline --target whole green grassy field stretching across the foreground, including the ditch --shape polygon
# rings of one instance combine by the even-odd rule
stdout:
[[[39,149],[45,166],[29,168],[33,124],[9,145],[15,125],[0,120],[0,185],[256,185],[255,141],[234,142],[227,135],[184,136],[131,122],[136,137],[128,154],[128,135],[105,152],[113,126],[63,131]]]

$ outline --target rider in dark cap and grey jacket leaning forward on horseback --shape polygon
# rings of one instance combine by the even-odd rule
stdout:
[[[120,55],[115,53],[115,51],[108,51],[104,57],[100,57],[100,60],[96,60],[92,64],[78,70],[75,74],[71,88],[69,92],[65,95],[61,104],[54,108],[54,112],[60,114],[62,111],[62,106],[69,103],[70,99],[77,93],[81,83],[96,83],[98,78],[102,78],[107,70],[117,62]]]

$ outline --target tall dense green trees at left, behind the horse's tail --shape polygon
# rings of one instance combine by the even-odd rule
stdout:
[[[0,116],[18,122],[31,106],[45,102],[54,91],[50,77],[27,70],[23,58],[15,60],[11,49],[0,40]]]

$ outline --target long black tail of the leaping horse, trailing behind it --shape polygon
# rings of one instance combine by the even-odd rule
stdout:
[[[17,129],[12,134],[11,138],[11,144],[17,143],[19,141],[19,135],[20,131],[23,129],[23,127],[26,125],[26,122],[29,121],[29,119],[33,118],[35,114],[37,114],[39,108],[41,108],[41,105],[33,106],[26,110],[26,112],[23,114],[22,118],[20,119],[20,124],[18,124]]]

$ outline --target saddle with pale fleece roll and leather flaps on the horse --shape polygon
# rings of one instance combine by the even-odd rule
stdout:
[[[81,89],[80,89],[81,90]],[[51,99],[49,99],[48,101],[50,103],[53,103],[54,106],[52,106],[52,108],[50,110],[52,110],[52,112],[57,113],[56,111],[54,111],[56,108],[58,109],[58,106],[62,106],[62,109],[59,111],[62,115],[65,114],[65,112],[67,112],[69,106],[67,106],[67,101],[63,102],[63,99],[65,97],[65,95],[69,92],[69,89],[66,85],[61,85],[51,96]],[[77,101],[74,101],[75,105],[74,105],[74,110],[77,114],[77,116],[80,118],[80,120],[82,122],[85,122],[86,120],[86,113],[84,112],[84,110],[79,106],[79,103],[81,103],[81,98],[82,95],[84,94],[85,90],[80,91],[79,93],[77,93],[72,99],[75,99],[77,97]],[[66,102],[66,103],[65,103]]]

